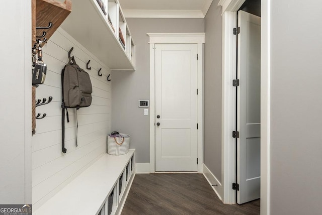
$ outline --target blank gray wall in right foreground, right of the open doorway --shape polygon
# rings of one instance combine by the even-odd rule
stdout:
[[[271,1],[271,214],[321,214],[321,1]]]

